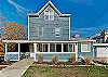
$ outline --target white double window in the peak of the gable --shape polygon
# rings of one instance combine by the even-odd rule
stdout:
[[[54,11],[53,10],[45,10],[44,11],[44,20],[45,21],[54,21]]]

